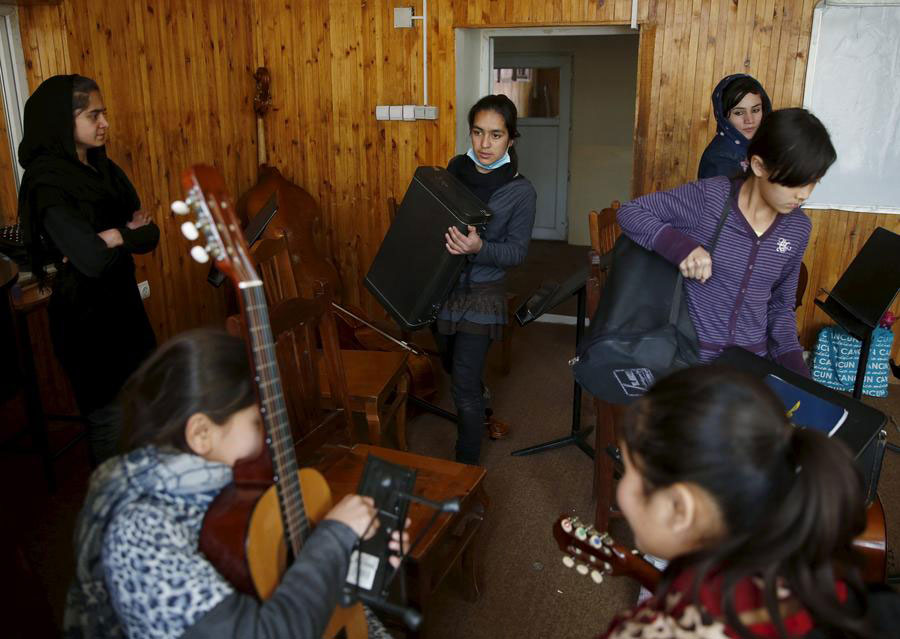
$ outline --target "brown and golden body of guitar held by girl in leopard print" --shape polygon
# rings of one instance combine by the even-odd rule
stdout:
[[[315,524],[331,510],[331,489],[317,470],[298,473],[306,514]],[[203,519],[200,550],[244,594],[268,599],[288,568],[288,549],[275,486],[230,484]],[[335,608],[323,637],[365,639],[369,628],[362,604]]]

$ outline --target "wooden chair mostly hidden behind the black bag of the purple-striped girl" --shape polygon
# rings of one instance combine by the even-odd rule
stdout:
[[[600,299],[600,291],[606,283],[606,274],[609,267],[609,256],[621,230],[616,222],[616,212],[619,208],[618,200],[612,202],[609,208],[599,213],[588,213],[588,225],[591,233],[591,250],[588,259],[591,264],[591,273],[587,285],[587,313],[593,318],[597,311]],[[606,530],[609,527],[610,515],[617,515],[613,510],[615,503],[615,462],[607,453],[607,449],[618,444],[619,425],[625,413],[625,407],[611,404],[594,398],[594,412],[597,424],[595,427],[594,441],[594,497],[597,506],[594,514],[594,526],[597,530]]]

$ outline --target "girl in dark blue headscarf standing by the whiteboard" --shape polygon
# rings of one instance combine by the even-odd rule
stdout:
[[[749,75],[729,75],[712,94],[716,137],[703,156],[697,177],[735,177],[747,169],[747,146],[756,135],[764,115],[772,110],[765,89]]]

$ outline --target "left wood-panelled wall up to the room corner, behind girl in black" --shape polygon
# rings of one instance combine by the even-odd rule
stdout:
[[[221,324],[223,293],[206,283],[208,266],[190,259],[169,204],[184,197],[181,170],[195,162],[217,166],[236,190],[255,181],[249,4],[65,0],[20,8],[19,24],[32,89],[58,73],[100,85],[109,155],[162,231],[156,251],[137,256],[158,337]]]

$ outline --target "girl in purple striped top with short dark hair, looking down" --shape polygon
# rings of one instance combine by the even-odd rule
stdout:
[[[740,178],[715,177],[624,204],[622,231],[684,275],[700,361],[728,346],[809,376],[797,340],[797,278],[812,224],[800,205],[837,159],[825,127],[805,109],[767,115]],[[725,221],[712,257],[721,216]]]

